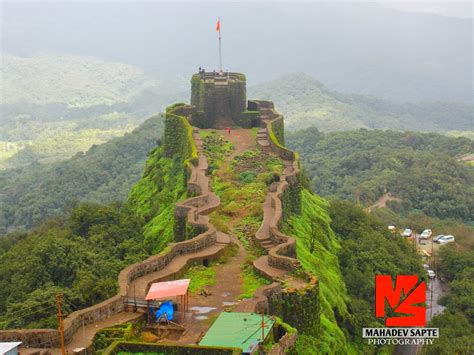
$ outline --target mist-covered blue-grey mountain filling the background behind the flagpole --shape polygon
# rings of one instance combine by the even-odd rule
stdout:
[[[73,53],[187,82],[199,65],[251,84],[305,72],[333,90],[472,102],[472,19],[371,3],[8,2],[3,51]],[[50,14],[55,21],[50,21]],[[179,16],[170,16],[179,14]]]

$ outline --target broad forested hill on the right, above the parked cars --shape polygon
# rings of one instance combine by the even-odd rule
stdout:
[[[315,192],[371,205],[385,193],[401,198],[401,212],[474,221],[474,166],[458,158],[474,152],[467,138],[358,130],[287,135],[300,152]],[[395,204],[395,202],[392,202]]]

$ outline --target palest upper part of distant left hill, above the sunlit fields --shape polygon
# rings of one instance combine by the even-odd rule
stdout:
[[[1,69],[2,104],[111,105],[159,85],[133,65],[77,55],[3,53]]]

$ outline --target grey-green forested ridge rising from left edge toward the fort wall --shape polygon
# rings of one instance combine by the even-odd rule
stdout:
[[[31,227],[77,200],[124,200],[156,146],[163,119],[154,116],[132,133],[50,165],[0,171],[0,233]]]

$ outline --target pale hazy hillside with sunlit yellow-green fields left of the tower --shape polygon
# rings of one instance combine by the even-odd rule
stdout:
[[[90,57],[2,59],[0,170],[64,160],[122,136],[178,90],[137,67]]]

